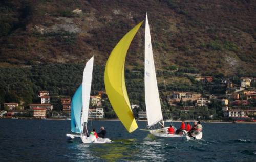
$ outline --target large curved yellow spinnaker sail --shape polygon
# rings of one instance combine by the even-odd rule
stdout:
[[[105,89],[110,103],[123,123],[124,127],[130,133],[138,128],[138,125],[133,117],[133,112],[129,102],[124,81],[124,64],[127,50],[139,30],[140,22],[131,31],[125,34],[117,43],[115,48],[110,53],[110,57],[106,62],[105,67]]]

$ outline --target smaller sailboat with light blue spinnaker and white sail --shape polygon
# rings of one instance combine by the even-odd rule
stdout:
[[[96,139],[93,135],[89,136],[87,129],[93,61],[94,57],[86,63],[83,71],[82,84],[76,90],[71,101],[71,131],[77,134],[66,134],[66,137],[68,140],[80,137],[83,143],[108,143],[111,142],[110,139]]]

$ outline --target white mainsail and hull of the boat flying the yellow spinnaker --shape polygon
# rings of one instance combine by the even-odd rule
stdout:
[[[156,70],[153,58],[153,50],[151,44],[151,35],[150,35],[150,26],[148,24],[148,19],[146,15],[146,25],[145,25],[145,72],[144,72],[144,82],[145,82],[145,103],[146,103],[146,113],[147,113],[147,122],[150,133],[157,137],[168,137],[168,138],[187,138],[190,137],[187,135],[186,131],[183,131],[182,134],[168,134],[167,128],[164,127],[164,121],[162,116]],[[155,124],[159,123],[163,128],[154,129]],[[202,133],[199,134],[197,139],[202,138]]]

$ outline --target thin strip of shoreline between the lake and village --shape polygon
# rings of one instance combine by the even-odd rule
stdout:
[[[45,118],[45,119],[35,119],[32,117],[19,117],[19,118],[0,118],[0,119],[25,119],[25,120],[70,120],[70,118]],[[119,119],[88,119],[90,121],[120,121]],[[147,120],[137,120],[139,122],[147,122]],[[197,120],[185,120],[185,122],[194,122]],[[166,123],[170,121],[165,121]],[[172,122],[182,122],[182,120],[172,120]],[[231,123],[231,124],[256,124],[256,122],[236,122],[233,123],[232,121],[218,121],[218,120],[210,120],[210,121],[201,121],[202,123]]]

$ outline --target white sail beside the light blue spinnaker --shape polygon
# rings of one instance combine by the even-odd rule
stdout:
[[[81,129],[83,130],[84,123],[88,119],[91,85],[92,85],[92,75],[93,75],[93,59],[92,57],[87,63],[83,71],[82,77],[82,117],[81,117]]]

